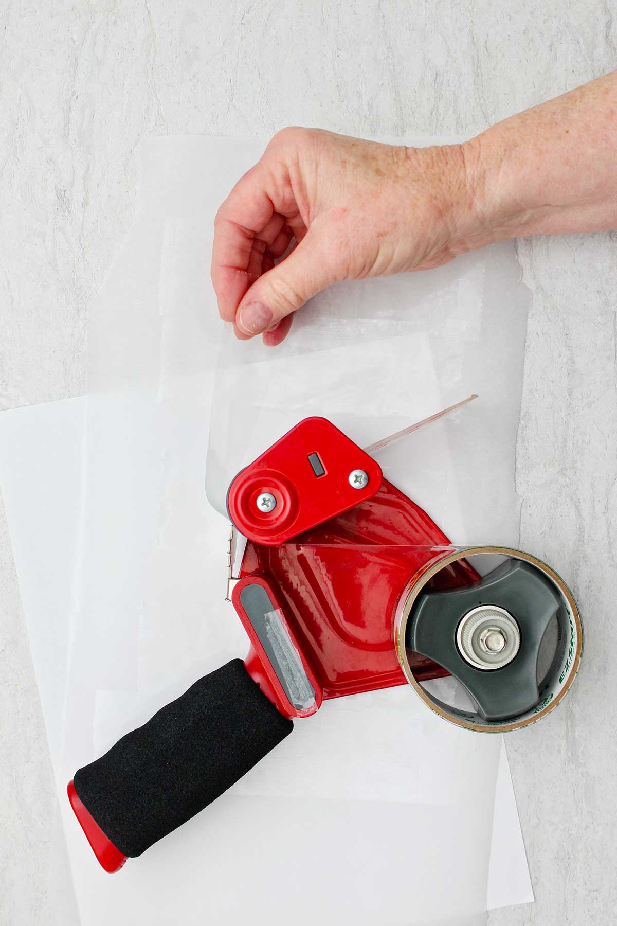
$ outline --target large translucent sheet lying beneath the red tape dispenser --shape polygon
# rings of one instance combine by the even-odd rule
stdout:
[[[228,519],[207,499],[224,515],[236,473],[299,419],[324,416],[368,446],[478,394],[376,459],[453,544],[518,543],[528,294],[512,246],[340,284],[299,313],[277,349],[226,331],[219,351],[207,282],[214,215],[262,150],[142,143],[136,219],[90,315],[76,603],[72,618],[57,616],[64,698],[45,715],[80,921],[235,923],[250,911],[264,926],[479,926],[487,884],[492,906],[532,899],[509,799],[493,813],[496,784],[508,793],[501,737],[444,723],[409,686],[325,702],[114,878],[97,869],[64,795],[77,768],[245,655],[223,600]],[[36,626],[44,663],[43,620]]]

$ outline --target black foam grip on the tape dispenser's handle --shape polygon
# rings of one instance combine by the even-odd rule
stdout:
[[[125,856],[191,820],[291,732],[241,659],[205,675],[74,776],[81,803]]]

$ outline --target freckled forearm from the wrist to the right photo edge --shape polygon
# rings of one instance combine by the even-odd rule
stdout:
[[[463,156],[483,226],[472,247],[617,228],[617,71],[505,119]]]

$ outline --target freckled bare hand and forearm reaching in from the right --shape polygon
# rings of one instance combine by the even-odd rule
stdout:
[[[427,270],[520,235],[617,228],[617,71],[464,144],[278,132],[215,221],[212,282],[237,336],[279,344],[333,282]]]

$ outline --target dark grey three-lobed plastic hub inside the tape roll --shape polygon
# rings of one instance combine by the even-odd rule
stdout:
[[[497,669],[471,665],[457,644],[463,619],[475,608],[486,606],[506,611],[520,632],[517,652],[507,665]],[[540,645],[559,608],[557,589],[539,569],[521,560],[509,560],[479,582],[420,595],[405,643],[448,669],[475,699],[485,720],[507,720],[524,714],[539,701]]]

